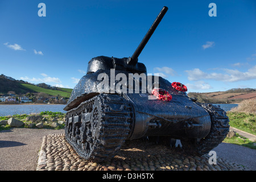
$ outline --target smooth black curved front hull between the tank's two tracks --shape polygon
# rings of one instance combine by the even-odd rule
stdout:
[[[148,94],[125,94],[134,107],[134,127],[130,139],[147,136],[204,138],[210,131],[208,112],[188,99],[175,95],[171,102],[148,100]]]

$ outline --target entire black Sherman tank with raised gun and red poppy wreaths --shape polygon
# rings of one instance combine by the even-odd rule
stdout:
[[[140,138],[170,147],[179,139],[184,151],[203,155],[228,134],[224,110],[189,98],[187,90],[174,87],[176,82],[147,75],[145,65],[138,63],[167,10],[164,6],[131,57],[89,61],[64,108],[65,139],[82,158],[112,158],[126,140]]]

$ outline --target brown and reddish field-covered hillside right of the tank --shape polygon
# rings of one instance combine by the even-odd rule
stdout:
[[[199,102],[212,104],[235,104],[243,100],[256,99],[256,89],[230,89],[225,92],[188,93],[189,97],[196,97]]]

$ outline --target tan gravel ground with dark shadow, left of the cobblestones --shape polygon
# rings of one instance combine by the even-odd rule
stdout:
[[[0,131],[0,171],[34,171],[43,137],[64,130],[13,128]]]

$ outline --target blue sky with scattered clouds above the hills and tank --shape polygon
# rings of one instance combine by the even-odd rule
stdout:
[[[74,88],[92,57],[133,55],[163,6],[168,11],[139,56],[148,73],[188,92],[256,88],[253,0],[0,0],[0,74]]]

